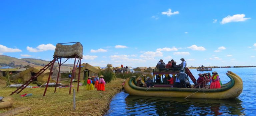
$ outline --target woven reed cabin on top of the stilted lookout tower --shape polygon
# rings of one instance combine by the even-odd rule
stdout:
[[[83,58],[83,45],[77,42],[73,45],[56,44],[54,56],[62,58]]]

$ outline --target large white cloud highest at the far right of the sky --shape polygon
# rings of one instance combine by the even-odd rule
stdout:
[[[246,21],[248,19],[251,19],[251,18],[244,18],[244,17],[245,17],[245,14],[236,14],[233,16],[227,16],[222,19],[220,24],[226,24],[226,23],[230,23],[230,22],[240,22],[240,21]]]

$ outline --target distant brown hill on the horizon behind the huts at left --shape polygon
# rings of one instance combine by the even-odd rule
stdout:
[[[22,66],[43,66],[48,64],[49,61],[34,59],[34,58],[14,58],[6,55],[0,55],[0,66],[11,66],[11,67],[20,67]],[[58,63],[55,63],[58,65]],[[71,64],[63,64],[63,66],[70,66]],[[72,65],[71,65],[72,66]]]

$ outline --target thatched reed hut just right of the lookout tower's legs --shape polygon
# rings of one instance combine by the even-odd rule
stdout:
[[[76,71],[75,71],[75,79],[78,79],[78,69],[79,67],[77,67]],[[95,68],[94,66],[88,64],[88,63],[83,63],[81,64],[81,73],[80,73],[80,80],[84,80],[85,78],[85,72],[88,72],[88,76],[97,76],[99,73],[99,69]]]

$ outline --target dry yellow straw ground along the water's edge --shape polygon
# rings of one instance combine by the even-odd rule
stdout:
[[[32,109],[21,116],[100,116],[109,108],[111,98],[122,89],[123,79],[116,79],[106,85],[106,91],[85,90],[85,86],[79,87],[76,92],[76,109],[73,110],[73,91],[68,95],[69,87],[57,88],[48,87],[46,96],[43,97],[45,88],[25,88],[19,94],[13,94],[13,107],[0,109],[5,112],[17,107],[28,106]],[[75,89],[77,83],[73,83]],[[35,85],[34,85],[35,86]],[[7,96],[16,88],[0,88],[0,96]],[[32,96],[20,97],[24,93],[32,93]]]

